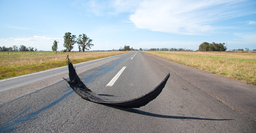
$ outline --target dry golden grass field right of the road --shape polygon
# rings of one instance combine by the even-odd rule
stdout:
[[[143,51],[256,86],[256,53]]]

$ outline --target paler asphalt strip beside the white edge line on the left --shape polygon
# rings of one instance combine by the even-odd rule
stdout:
[[[97,59],[90,62],[74,64],[74,67],[76,67],[77,73],[79,74],[118,58],[120,57],[113,56]],[[72,57],[70,57],[70,59],[72,59]],[[68,66],[47,71],[40,71],[38,73],[18,76],[14,78],[0,80],[0,104],[43,89],[47,86],[55,84],[58,81],[63,80],[63,78],[67,79]]]

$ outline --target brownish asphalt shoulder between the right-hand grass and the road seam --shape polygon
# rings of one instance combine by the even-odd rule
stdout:
[[[242,81],[227,79],[207,71],[178,64],[150,54],[145,55],[173,71],[193,86],[222,102],[233,111],[256,122],[256,87]]]

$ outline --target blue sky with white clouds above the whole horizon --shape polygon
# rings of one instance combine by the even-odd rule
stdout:
[[[0,0],[0,46],[63,47],[65,32],[90,50],[198,49],[202,42],[256,49],[255,0]],[[75,44],[73,50],[78,50]]]

